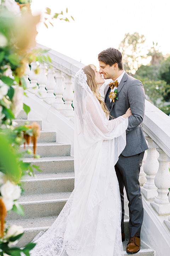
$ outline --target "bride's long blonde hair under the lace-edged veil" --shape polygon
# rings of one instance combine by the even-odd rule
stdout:
[[[96,96],[97,100],[100,102],[106,117],[111,116],[109,111],[108,111],[108,109],[107,109],[107,107],[106,107],[106,104],[102,100],[100,94],[97,94],[97,82],[95,80],[95,71],[92,69],[92,67],[97,70],[96,66],[93,65],[93,64],[84,66],[84,68],[83,68],[83,71],[84,71],[84,73],[87,76],[87,84],[89,85],[89,87],[92,90],[93,94]]]

